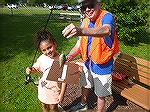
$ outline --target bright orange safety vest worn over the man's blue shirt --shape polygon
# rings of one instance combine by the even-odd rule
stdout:
[[[99,12],[100,14],[95,22],[94,27],[102,26],[102,18],[106,13],[108,13],[105,10],[101,10]],[[88,18],[85,18],[82,22],[81,27],[88,28],[89,23],[90,20]],[[111,48],[109,48],[105,44],[104,37],[92,37],[89,56],[87,56],[87,43],[88,36],[80,36],[80,51],[83,61],[86,61],[88,57],[90,57],[95,64],[104,64],[119,52],[116,29],[114,31],[113,45]]]

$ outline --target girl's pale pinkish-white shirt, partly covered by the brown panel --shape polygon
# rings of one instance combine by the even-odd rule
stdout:
[[[58,104],[60,88],[56,81],[46,80],[54,59],[42,54],[33,67],[41,73],[38,85],[38,99],[45,104]]]

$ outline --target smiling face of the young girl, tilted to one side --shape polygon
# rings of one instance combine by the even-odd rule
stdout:
[[[39,48],[44,55],[50,58],[55,57],[55,54],[56,54],[55,43],[49,42],[48,40],[41,41]]]

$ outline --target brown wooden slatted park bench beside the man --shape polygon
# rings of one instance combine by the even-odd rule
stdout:
[[[113,81],[113,90],[150,110],[150,61],[120,53],[115,59],[113,72],[127,75],[125,80]]]

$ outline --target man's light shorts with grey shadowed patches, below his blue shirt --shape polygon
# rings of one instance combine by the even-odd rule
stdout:
[[[83,66],[83,73],[80,75],[80,85],[85,88],[94,87],[94,92],[97,96],[104,97],[112,94],[111,90],[112,75],[99,75],[88,70]]]

